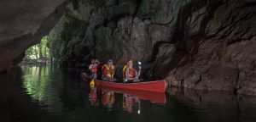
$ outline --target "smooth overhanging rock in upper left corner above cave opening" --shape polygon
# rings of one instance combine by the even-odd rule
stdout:
[[[0,71],[48,34],[66,8],[65,1],[0,2]]]

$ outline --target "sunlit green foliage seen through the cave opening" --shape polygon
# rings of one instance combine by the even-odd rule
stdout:
[[[28,59],[49,58],[49,37],[44,36],[38,45],[29,47],[26,50],[26,58]]]

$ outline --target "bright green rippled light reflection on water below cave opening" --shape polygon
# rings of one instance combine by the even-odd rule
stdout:
[[[61,99],[59,97],[62,82],[54,80],[54,69],[50,67],[24,66],[23,86],[32,101],[45,106],[45,109],[56,112],[61,111]],[[56,76],[56,75],[55,75]],[[50,93],[49,93],[50,92]]]

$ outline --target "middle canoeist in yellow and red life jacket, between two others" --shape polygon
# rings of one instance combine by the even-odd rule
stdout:
[[[116,79],[113,78],[114,73],[115,67],[113,65],[113,60],[109,59],[108,64],[102,66],[102,80],[115,81]]]

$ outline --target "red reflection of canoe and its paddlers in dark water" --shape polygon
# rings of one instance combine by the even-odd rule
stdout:
[[[101,97],[101,99],[98,99],[97,97]],[[93,87],[90,88],[89,100],[90,104],[93,106],[98,106],[99,103],[102,103],[102,106],[107,107],[108,110],[120,107],[123,108],[125,112],[136,112],[137,114],[141,114],[141,100],[165,105],[166,94],[162,92],[123,90],[112,87]],[[100,100],[101,102],[99,102]]]

